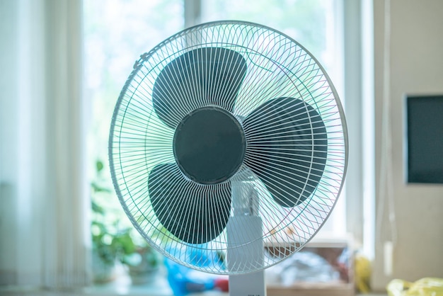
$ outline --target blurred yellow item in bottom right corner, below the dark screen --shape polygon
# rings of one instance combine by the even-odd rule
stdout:
[[[391,280],[389,296],[443,296],[443,278],[422,278],[414,283],[405,280]]]

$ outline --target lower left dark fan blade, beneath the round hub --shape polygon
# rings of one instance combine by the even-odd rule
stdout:
[[[171,234],[189,244],[219,236],[231,210],[231,184],[201,186],[185,178],[176,164],[159,164],[149,173],[149,197],[156,217]]]

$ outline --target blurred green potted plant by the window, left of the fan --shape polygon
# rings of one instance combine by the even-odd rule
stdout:
[[[96,162],[91,183],[93,278],[96,283],[113,280],[116,262],[127,266],[133,284],[149,283],[159,270],[159,254],[129,225],[122,225],[120,207],[109,206],[112,190],[101,175],[103,162]],[[104,185],[103,185],[104,184]]]

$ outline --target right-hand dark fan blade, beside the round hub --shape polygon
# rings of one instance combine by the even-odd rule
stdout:
[[[317,111],[297,98],[274,98],[243,122],[245,163],[272,198],[294,207],[313,193],[323,175],[328,139]]]

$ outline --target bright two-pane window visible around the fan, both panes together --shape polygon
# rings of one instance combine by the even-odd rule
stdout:
[[[238,19],[262,23],[286,33],[306,47],[326,68],[340,98],[343,96],[342,0],[84,0],[86,97],[91,101],[91,130],[88,135],[90,174],[96,189],[94,200],[110,212],[108,223],[117,229],[130,222],[113,194],[108,164],[108,132],[113,108],[134,60],[162,40],[182,30],[185,15],[195,23]],[[192,5],[190,5],[192,4]],[[105,190],[103,190],[105,189]],[[107,191],[109,190],[109,191]],[[93,214],[95,215],[95,214]],[[345,236],[345,197],[322,228],[325,237]],[[96,231],[98,231],[96,229]],[[112,238],[105,238],[112,243]]]

